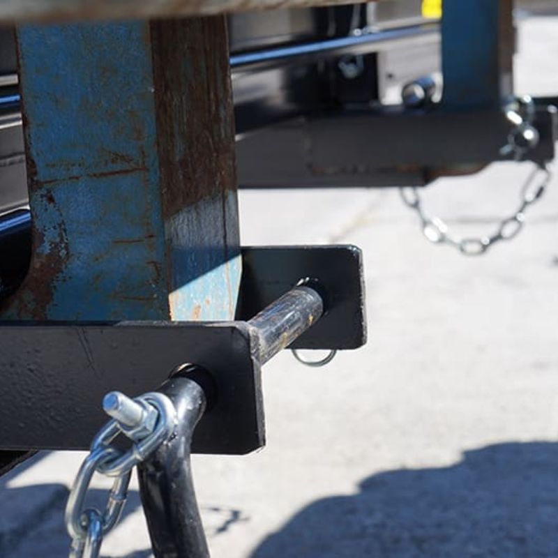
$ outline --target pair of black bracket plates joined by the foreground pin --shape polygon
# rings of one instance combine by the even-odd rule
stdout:
[[[151,391],[185,363],[207,370],[217,393],[193,451],[263,446],[259,335],[245,320],[306,279],[325,312],[296,347],[363,345],[362,259],[354,246],[248,248],[243,259],[237,322],[1,323],[0,449],[87,448],[106,418],[105,393]]]

